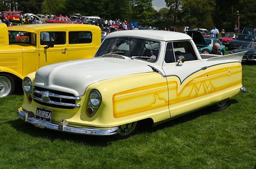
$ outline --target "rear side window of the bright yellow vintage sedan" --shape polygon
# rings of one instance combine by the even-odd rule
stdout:
[[[92,33],[85,32],[85,31],[69,32],[68,43],[69,44],[92,43]]]

